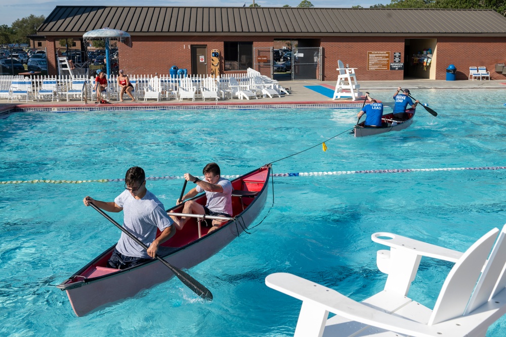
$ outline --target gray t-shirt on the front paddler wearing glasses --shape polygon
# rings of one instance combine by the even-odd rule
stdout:
[[[137,200],[125,190],[114,199],[114,202],[123,208],[123,227],[148,247],[156,238],[156,228],[163,231],[173,224],[163,204],[150,191],[146,191],[144,198]],[[116,249],[126,256],[149,258],[146,250],[123,232]]]

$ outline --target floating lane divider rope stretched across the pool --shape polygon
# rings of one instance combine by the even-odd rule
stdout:
[[[386,170],[361,170],[361,171],[330,171],[330,172],[292,172],[292,173],[274,173],[273,177],[305,177],[305,176],[324,176],[324,175],[341,175],[341,174],[359,174],[359,173],[407,173],[407,172],[437,172],[437,171],[461,171],[461,170],[504,170],[506,166],[485,166],[485,167],[448,167],[448,168],[430,168],[430,169],[386,169]],[[223,178],[234,179],[239,175],[223,175]],[[173,180],[183,179],[183,176],[166,175],[161,177],[146,177],[146,180]],[[124,179],[96,179],[96,180],[11,180],[0,181],[0,185],[7,184],[80,184],[85,182],[116,182],[124,181]]]

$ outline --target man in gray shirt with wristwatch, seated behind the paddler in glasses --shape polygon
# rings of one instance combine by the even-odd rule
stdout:
[[[206,214],[212,216],[224,216],[232,217],[232,183],[230,180],[222,178],[220,176],[220,167],[216,163],[209,163],[205,165],[202,170],[205,180],[185,173],[185,179],[196,184],[195,188],[192,188],[182,200],[177,200],[177,204],[181,204],[183,200],[193,198],[200,192],[205,191],[205,197],[207,204],[202,206],[193,200],[188,200],[183,208],[183,213],[186,214]],[[178,219],[175,216],[171,216],[176,224],[178,230],[183,229],[188,217],[182,217]],[[209,232],[220,228],[223,223],[227,220],[213,220],[213,227],[209,229]]]

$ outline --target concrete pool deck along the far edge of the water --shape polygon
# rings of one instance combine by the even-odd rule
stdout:
[[[408,79],[402,81],[359,81],[360,90],[362,92],[369,91],[371,95],[373,95],[374,90],[391,90],[392,94],[395,92],[397,87],[401,86],[402,88],[409,88],[412,94],[416,94],[414,90],[423,90],[423,89],[506,89],[506,82],[499,80],[462,80],[462,81],[445,81],[445,80],[427,80],[427,79]],[[318,107],[321,105],[350,105],[350,107],[354,107],[357,104],[362,103],[363,101],[351,101],[349,99],[340,99],[340,100],[332,100],[331,98],[326,97],[324,94],[318,93],[314,90],[307,88],[306,86],[315,86],[321,85],[323,87],[329,88],[333,90],[335,86],[335,81],[280,81],[280,85],[283,87],[290,89],[290,95],[281,95],[281,98],[273,97],[272,99],[260,98],[258,100],[238,100],[238,99],[228,99],[228,100],[219,100],[218,102],[214,100],[207,100],[202,102],[200,99],[197,99],[195,102],[191,102],[190,100],[184,100],[180,102],[178,100],[162,100],[160,102],[156,102],[150,100],[148,102],[129,102],[125,100],[124,103],[119,103],[118,101],[111,101],[111,104],[107,105],[96,105],[94,101],[88,101],[87,104],[81,101],[70,101],[70,102],[51,102],[51,101],[40,101],[40,102],[17,102],[9,103],[5,99],[0,99],[0,113],[9,111],[16,108],[25,108],[25,109],[33,109],[33,108],[53,108],[53,109],[65,109],[65,108],[87,108],[87,109],[95,109],[95,108],[118,108],[118,107],[129,107],[142,109],[143,107],[182,107],[188,109],[189,107],[203,107],[203,106],[313,106]]]

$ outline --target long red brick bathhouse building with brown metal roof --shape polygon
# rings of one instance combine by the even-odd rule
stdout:
[[[494,71],[506,61],[506,18],[492,10],[286,7],[58,6],[37,31],[46,36],[50,74],[59,39],[104,27],[131,35],[132,47],[118,43],[118,55],[132,74],[167,74],[174,65],[208,74],[216,50],[221,74],[252,67],[270,76],[273,46],[292,40],[292,73],[311,69],[314,79],[335,80],[338,60],[360,80],[445,79],[450,64],[457,80],[470,66],[506,78]]]

